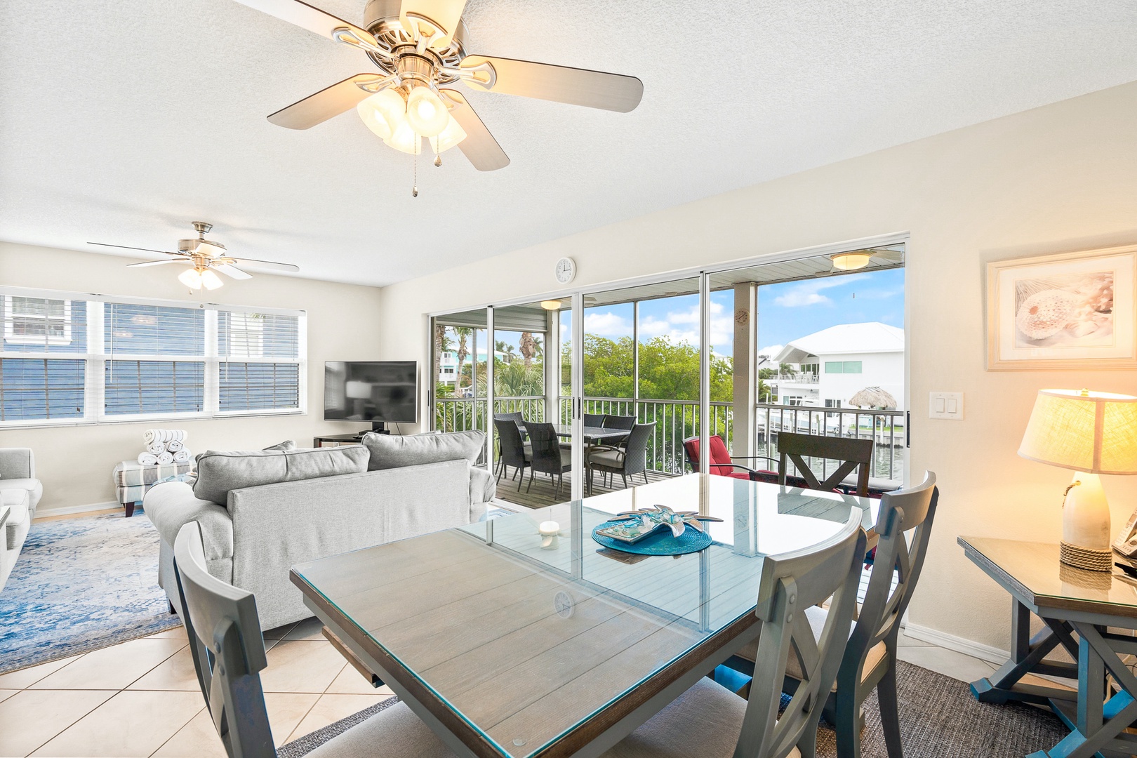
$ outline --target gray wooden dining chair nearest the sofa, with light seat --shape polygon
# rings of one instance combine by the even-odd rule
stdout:
[[[251,592],[206,568],[201,527],[174,540],[174,575],[193,668],[229,758],[275,758],[260,672],[268,665]],[[454,758],[422,719],[399,702],[332,738],[310,758]]]

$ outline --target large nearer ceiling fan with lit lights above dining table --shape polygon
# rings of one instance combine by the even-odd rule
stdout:
[[[364,124],[396,150],[422,152],[428,140],[439,155],[455,145],[474,168],[491,172],[509,158],[471,108],[462,82],[473,90],[540,98],[628,113],[644,83],[634,76],[568,68],[466,52],[466,0],[370,0],[363,27],[300,0],[238,0],[271,16],[364,51],[379,72],[356,74],[268,116],[306,130],[355,107]],[[417,192],[415,192],[417,195]]]

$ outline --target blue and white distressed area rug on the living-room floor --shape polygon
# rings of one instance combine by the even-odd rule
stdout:
[[[0,674],[175,626],[144,514],[40,522],[0,591]]]

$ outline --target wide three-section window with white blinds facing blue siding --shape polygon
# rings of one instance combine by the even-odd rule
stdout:
[[[304,411],[302,311],[0,288],[0,425]]]

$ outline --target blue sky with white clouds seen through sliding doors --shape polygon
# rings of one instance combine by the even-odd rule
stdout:
[[[645,300],[640,303],[640,340],[666,335],[672,342],[698,344],[698,295]],[[733,292],[711,293],[711,344],[721,356],[733,351]],[[570,314],[562,314],[562,341]],[[632,334],[632,306],[586,308],[584,328],[617,340]],[[845,274],[758,288],[758,352],[777,353],[790,340],[837,324],[882,322],[904,327],[904,269]],[[521,334],[498,332],[517,347]],[[484,347],[479,352],[484,355]]]

